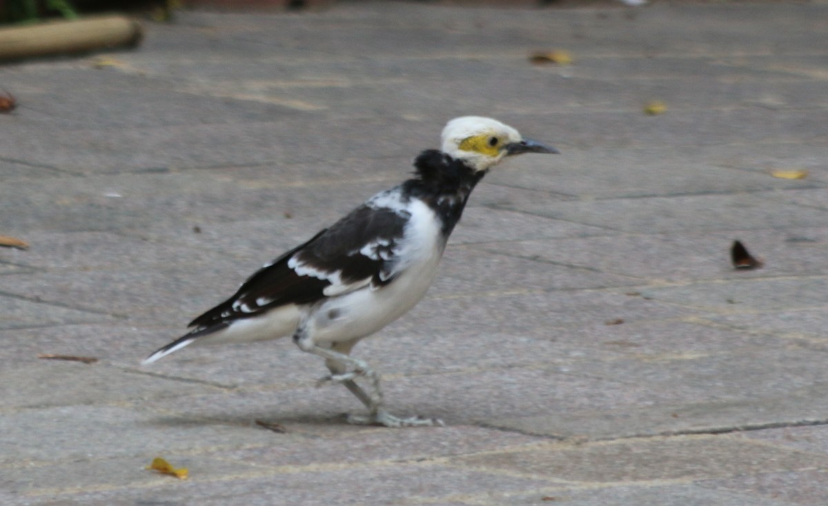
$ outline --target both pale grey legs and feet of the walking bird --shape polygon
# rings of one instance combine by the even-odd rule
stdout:
[[[317,346],[309,340],[296,339],[296,344],[302,351],[307,351],[316,356],[321,356],[325,359],[325,365],[331,372],[330,376],[326,376],[319,382],[317,386],[325,383],[341,383],[346,389],[349,389],[351,394],[359,399],[361,403],[368,408],[367,416],[348,415],[347,421],[355,425],[384,425],[385,427],[421,427],[421,426],[443,426],[442,420],[436,418],[398,418],[388,413],[383,408],[383,390],[379,386],[379,375],[368,367],[363,360],[355,359],[352,356],[342,353],[340,351],[330,350]],[[339,346],[343,351],[350,351],[355,343],[347,343],[344,346]],[[336,345],[335,345],[336,346]],[[351,368],[350,371],[348,369]],[[367,376],[371,380],[373,387],[373,395],[368,394],[365,390],[354,381],[357,376]]]

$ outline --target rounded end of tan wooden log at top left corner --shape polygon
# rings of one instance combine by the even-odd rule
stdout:
[[[134,46],[142,35],[141,23],[123,16],[13,26],[0,29],[0,61]]]

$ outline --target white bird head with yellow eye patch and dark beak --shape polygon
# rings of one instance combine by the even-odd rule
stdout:
[[[524,140],[513,127],[490,117],[456,117],[445,125],[442,150],[475,170],[497,165],[504,156],[557,153],[555,148]]]

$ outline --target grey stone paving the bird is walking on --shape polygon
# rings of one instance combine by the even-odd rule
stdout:
[[[0,68],[0,504],[828,504],[828,3],[185,12],[107,58]],[[138,365],[464,114],[562,155],[355,350],[447,427],[345,425],[289,340]]]

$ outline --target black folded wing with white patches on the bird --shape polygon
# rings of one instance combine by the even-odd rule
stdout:
[[[190,327],[213,327],[285,304],[315,303],[368,284],[387,284],[396,275],[407,221],[404,211],[360,206],[262,267]]]

